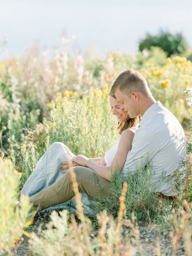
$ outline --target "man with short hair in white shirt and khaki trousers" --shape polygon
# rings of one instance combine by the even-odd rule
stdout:
[[[174,171],[184,174],[183,160],[186,158],[185,135],[176,117],[162,104],[153,98],[147,82],[138,71],[128,70],[120,74],[113,84],[109,95],[115,95],[120,108],[128,112],[131,118],[140,115],[142,120],[139,129],[135,132],[132,148],[129,151],[121,175],[128,171],[135,172],[142,164],[152,164],[153,181],[158,182],[165,173],[164,182],[158,189],[162,201],[173,200]],[[102,170],[106,167],[94,169],[84,156],[72,159],[82,166],[74,167],[80,191],[91,197],[109,194],[110,182]],[[64,163],[66,164],[66,163]],[[85,166],[85,167],[84,167]],[[89,168],[87,168],[89,167]],[[91,169],[90,169],[91,168]],[[67,165],[62,170],[67,169]],[[96,171],[99,188],[95,183],[93,170]],[[102,177],[103,176],[103,177]],[[184,175],[182,175],[184,177]],[[180,178],[182,178],[180,177]],[[46,190],[30,197],[36,209],[45,209],[50,206],[68,201],[74,196],[69,172],[52,184]]]

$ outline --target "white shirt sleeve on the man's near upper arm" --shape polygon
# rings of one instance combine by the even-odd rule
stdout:
[[[153,158],[158,151],[158,143],[155,135],[147,129],[139,128],[134,134],[132,149],[127,155],[123,166],[123,172],[131,171],[134,173],[141,165],[147,162],[153,164]]]

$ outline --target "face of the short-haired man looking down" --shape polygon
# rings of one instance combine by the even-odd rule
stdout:
[[[115,91],[115,97],[120,103],[120,109],[127,111],[131,118],[137,117],[139,115],[139,104],[133,94],[129,96],[125,95],[119,89]]]

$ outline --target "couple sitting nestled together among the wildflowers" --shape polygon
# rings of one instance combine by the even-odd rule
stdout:
[[[164,203],[174,199],[174,174],[177,171],[180,179],[184,177],[183,161],[186,159],[185,135],[177,118],[159,101],[156,102],[144,76],[132,69],[121,73],[116,79],[109,101],[111,111],[119,122],[119,140],[108,150],[105,158],[74,156],[64,144],[53,143],[38,161],[22,190],[22,194],[30,195],[35,209],[43,210],[74,196],[67,158],[72,159],[79,190],[91,197],[101,197],[101,191],[104,196],[109,195],[109,177],[116,165],[123,180],[128,171],[134,173],[142,164],[150,162],[154,183],[158,183],[162,173],[165,173],[163,183],[154,192],[159,193],[159,199]],[[138,117],[142,118],[140,123]],[[57,157],[58,150],[61,151],[60,158]],[[38,180],[42,173],[44,181],[38,184],[34,177]],[[34,191],[30,189],[33,187],[31,181],[36,183]]]

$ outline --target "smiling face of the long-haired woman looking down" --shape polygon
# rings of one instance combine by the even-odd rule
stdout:
[[[111,112],[114,116],[116,116],[118,122],[125,122],[128,119],[130,119],[130,116],[128,115],[127,111],[120,110],[120,104],[116,98],[109,96],[109,103],[111,106]]]

